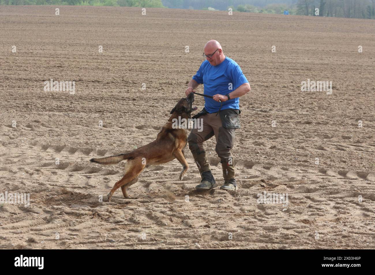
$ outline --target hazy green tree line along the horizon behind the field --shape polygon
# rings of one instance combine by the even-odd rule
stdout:
[[[284,3],[282,3],[284,2]],[[263,3],[263,5],[261,5]],[[375,0],[0,0],[2,5],[159,7],[375,19]],[[317,12],[317,9],[318,12]]]

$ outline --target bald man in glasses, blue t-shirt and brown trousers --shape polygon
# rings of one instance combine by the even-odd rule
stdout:
[[[204,94],[213,97],[204,97],[203,110],[192,117],[202,119],[203,131],[198,131],[194,125],[187,139],[202,178],[195,188],[207,190],[217,186],[203,148],[203,142],[215,136],[215,151],[220,158],[224,178],[224,185],[220,189],[237,190],[230,150],[234,145],[236,128],[240,128],[239,97],[250,91],[250,84],[240,66],[223,54],[223,49],[216,40],[206,43],[203,56],[206,60],[202,62],[185,91],[185,94],[189,95],[199,84],[204,84]]]

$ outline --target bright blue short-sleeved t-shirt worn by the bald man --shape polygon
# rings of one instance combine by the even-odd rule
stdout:
[[[207,59],[203,61],[193,79],[199,84],[204,84],[204,94],[211,97],[216,94],[229,94],[243,83],[249,83],[236,61],[227,56],[216,66],[211,65]],[[204,108],[208,113],[219,111],[220,102],[209,97],[204,97],[204,101]],[[239,97],[223,101],[221,110],[240,109],[239,102]]]

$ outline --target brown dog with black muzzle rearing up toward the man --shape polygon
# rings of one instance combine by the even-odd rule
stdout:
[[[113,193],[121,187],[124,198],[130,199],[126,190],[134,183],[137,182],[139,174],[146,167],[167,163],[177,159],[183,166],[180,173],[180,180],[182,180],[189,165],[187,165],[184,151],[187,144],[186,129],[180,127],[172,127],[172,119],[190,119],[191,112],[196,110],[197,107],[192,107],[194,101],[194,94],[190,93],[186,98],[181,98],[176,106],[171,111],[171,116],[168,122],[165,123],[162,130],[157,134],[156,140],[148,143],[145,146],[139,147],[132,152],[123,153],[117,156],[110,156],[106,158],[90,159],[91,162],[100,164],[117,164],[120,161],[127,160],[125,165],[125,175],[121,180],[117,181],[111,192],[108,193],[107,199],[110,202]]]

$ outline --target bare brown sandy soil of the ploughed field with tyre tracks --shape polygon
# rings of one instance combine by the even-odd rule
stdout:
[[[59,8],[0,6],[0,193],[30,193],[29,207],[0,204],[0,248],[375,247],[374,20]],[[239,190],[196,192],[187,149],[183,181],[174,160],[141,174],[137,199],[99,202],[124,163],[89,159],[154,140],[209,39],[252,86],[233,149]],[[51,78],[75,94],[43,91]],[[332,81],[332,94],[301,92],[307,79]],[[221,185],[215,141],[205,147]],[[258,204],[263,192],[288,204]]]

